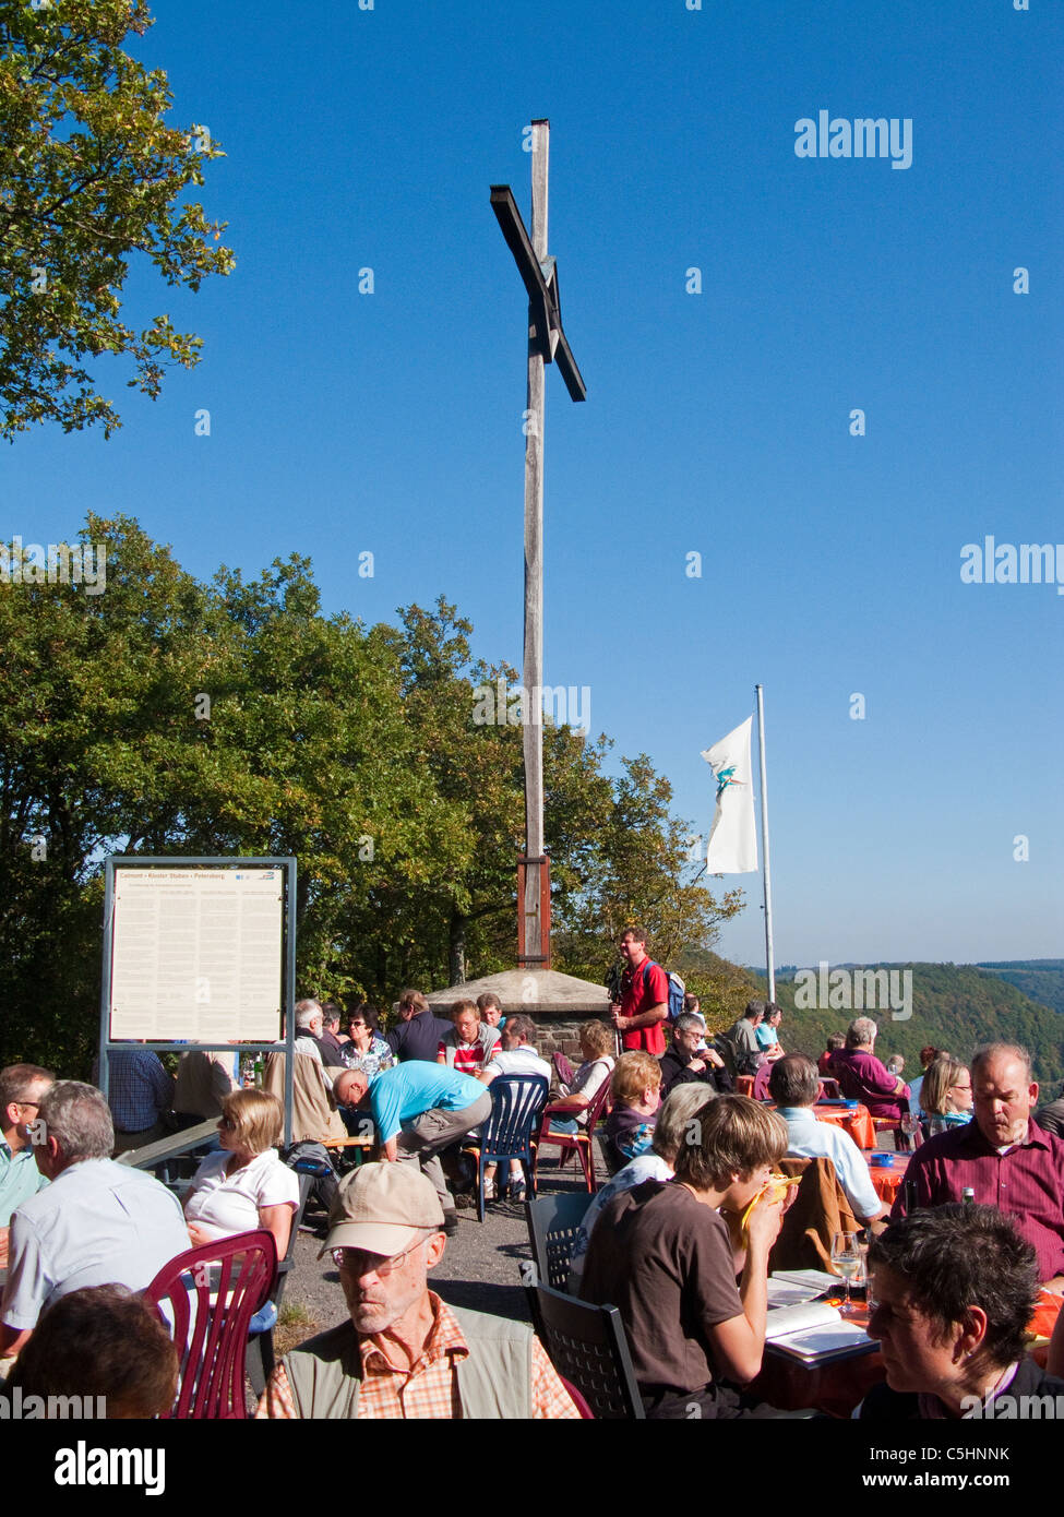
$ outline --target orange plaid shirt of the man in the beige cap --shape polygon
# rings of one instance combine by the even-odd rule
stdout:
[[[363,1382],[358,1393],[358,1420],[363,1417],[454,1418],[461,1417],[455,1365],[467,1358],[469,1347],[454,1312],[434,1291],[428,1292],[436,1321],[420,1359],[407,1371],[392,1364],[372,1338],[360,1338]],[[554,1365],[537,1338],[533,1340],[531,1367],[533,1418],[574,1418],[580,1412],[562,1385]],[[296,1406],[284,1364],[270,1376],[258,1403],[257,1417],[294,1418]]]

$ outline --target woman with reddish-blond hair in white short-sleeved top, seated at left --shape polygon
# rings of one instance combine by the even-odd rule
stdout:
[[[288,1252],[299,1180],[281,1164],[284,1107],[266,1091],[234,1091],[222,1103],[220,1153],[200,1164],[185,1197],[188,1236],[194,1247],[258,1227],[273,1233],[278,1259]]]

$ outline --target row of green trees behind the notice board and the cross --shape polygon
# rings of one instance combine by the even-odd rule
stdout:
[[[293,854],[304,992],[387,1001],[512,966],[521,728],[477,725],[469,623],[325,617],[307,560],[185,573],[137,522],[90,517],[106,589],[0,584],[0,1057],[85,1073],[102,860]],[[645,758],[543,731],[556,963],[595,978],[625,921],[665,957],[738,910],[683,859]]]

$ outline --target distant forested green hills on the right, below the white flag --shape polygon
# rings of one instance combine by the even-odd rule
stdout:
[[[1043,960],[1038,968],[1047,974],[1044,965],[1058,962]],[[1023,1044],[1031,1050],[1035,1079],[1041,1083],[1043,1094],[1056,1095],[1064,1079],[1064,1021],[1049,1006],[1040,1004],[1009,983],[1000,969],[990,971],[974,965],[955,963],[868,965],[867,968],[889,969],[896,974],[912,972],[912,1016],[908,1021],[894,1019],[889,1009],[877,1010],[873,1007],[870,1010],[870,1015],[880,1025],[876,1053],[882,1059],[892,1053],[905,1054],[906,1076],[920,1073],[920,1050],[926,1044],[947,1048],[967,1059],[977,1044],[1003,1039]],[[1020,971],[1017,969],[1017,972]],[[1059,974],[1059,971],[1056,972]],[[896,983],[903,985],[905,981],[897,980]],[[763,995],[763,975],[759,985]],[[798,983],[800,991],[801,983]],[[776,1000],[783,1007],[780,1042],[788,1053],[806,1053],[811,1057],[817,1057],[823,1051],[829,1033],[845,1032],[847,1022],[853,1016],[862,1015],[858,1009],[797,1009],[794,971],[788,971],[786,978],[777,977]],[[801,994],[800,1000],[803,1000]]]

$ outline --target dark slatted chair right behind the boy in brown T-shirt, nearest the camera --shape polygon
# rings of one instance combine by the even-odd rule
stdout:
[[[534,1294],[543,1347],[592,1417],[642,1421],[647,1412],[616,1306],[590,1306],[548,1285],[537,1285]]]

